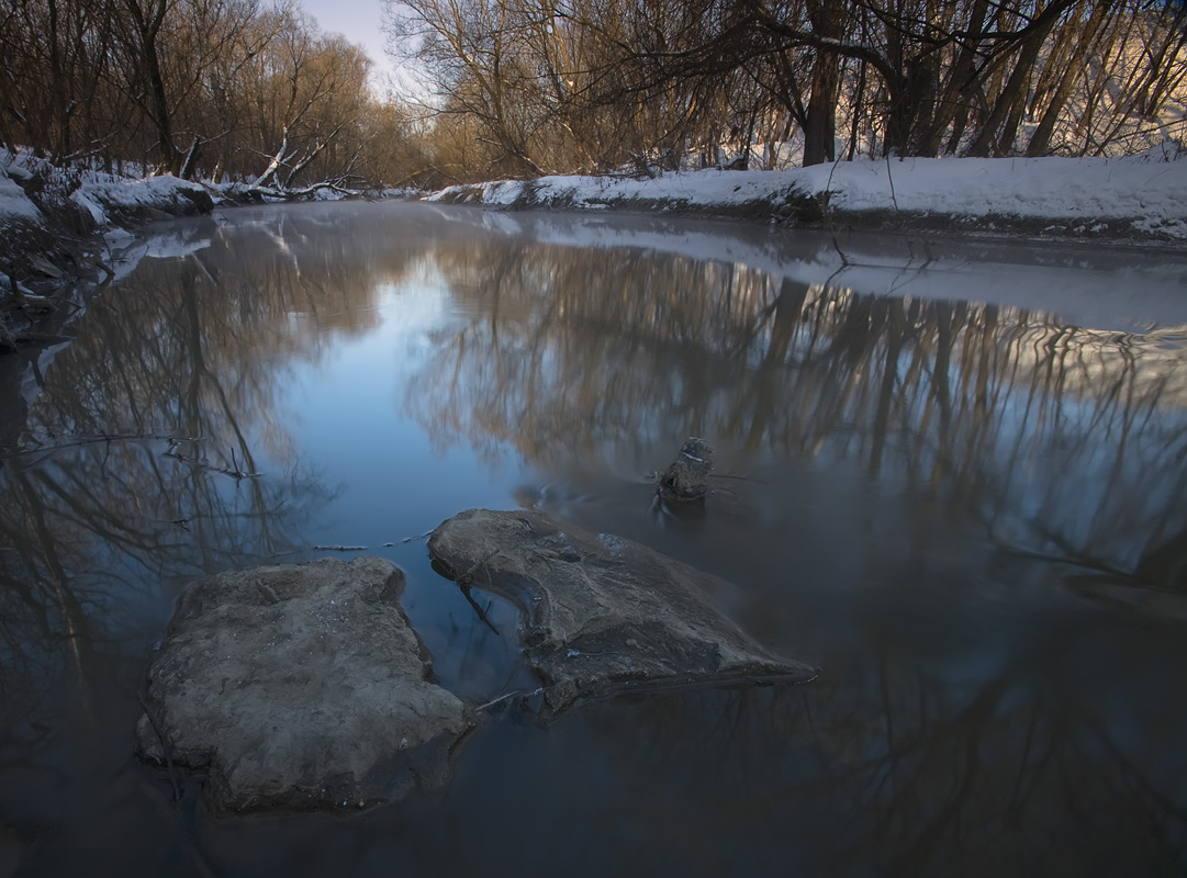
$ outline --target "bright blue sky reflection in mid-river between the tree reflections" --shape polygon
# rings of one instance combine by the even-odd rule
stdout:
[[[512,466],[491,467],[465,446],[434,448],[402,411],[405,387],[431,352],[426,333],[449,319],[449,307],[436,278],[382,288],[379,326],[294,370],[279,407],[291,413],[298,457],[343,489],[313,541],[376,547],[466,507],[508,505]]]

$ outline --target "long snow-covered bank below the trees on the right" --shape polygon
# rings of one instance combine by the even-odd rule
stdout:
[[[1172,144],[1121,159],[889,159],[654,179],[544,177],[451,186],[430,199],[1187,243],[1187,151]]]

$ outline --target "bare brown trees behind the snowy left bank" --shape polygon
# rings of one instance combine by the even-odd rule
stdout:
[[[408,173],[407,114],[368,90],[370,61],[292,6],[0,0],[0,141],[58,164],[281,187]]]

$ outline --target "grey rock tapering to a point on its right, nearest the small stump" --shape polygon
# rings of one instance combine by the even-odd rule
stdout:
[[[645,546],[535,510],[471,509],[429,540],[437,568],[520,609],[552,712],[575,699],[687,683],[805,682],[705,597],[722,581]]]

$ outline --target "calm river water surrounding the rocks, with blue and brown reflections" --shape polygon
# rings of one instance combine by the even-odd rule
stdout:
[[[151,231],[0,431],[0,878],[1187,869],[1187,259],[395,203]],[[732,494],[673,517],[690,434]],[[447,687],[531,686],[424,539],[523,505],[719,574],[823,674],[503,713],[349,817],[216,819],[134,758],[178,591],[230,567],[389,558]]]

